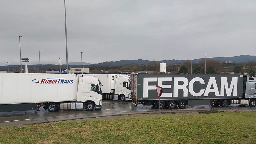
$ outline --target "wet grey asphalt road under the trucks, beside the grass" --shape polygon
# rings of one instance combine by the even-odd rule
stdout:
[[[18,111],[18,112],[1,112],[0,126],[5,125],[22,125],[43,122],[53,122],[60,120],[72,120],[80,118],[94,118],[101,116],[111,116],[117,114],[133,114],[138,112],[159,112],[152,106],[135,106],[128,102],[118,100],[104,100],[101,110],[86,111],[86,110],[60,110],[58,112],[48,112],[42,107],[41,111]],[[229,105],[227,108],[220,106],[187,106],[185,109],[162,109],[161,112],[202,112],[202,111],[256,111],[256,107]]]

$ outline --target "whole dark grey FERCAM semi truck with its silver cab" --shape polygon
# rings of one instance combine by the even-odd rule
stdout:
[[[134,74],[131,75],[133,103],[159,108],[156,86],[163,88],[160,108],[256,105],[256,78],[239,74]]]

